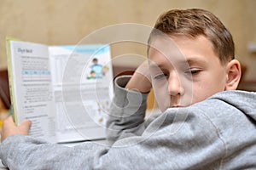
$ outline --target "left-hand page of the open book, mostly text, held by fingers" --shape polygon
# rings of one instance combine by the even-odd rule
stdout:
[[[30,135],[55,143],[49,52],[45,45],[10,41],[9,74],[15,121],[32,121]]]

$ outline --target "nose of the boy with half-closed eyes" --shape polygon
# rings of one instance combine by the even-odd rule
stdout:
[[[173,71],[168,77],[168,92],[171,96],[183,95],[184,93],[177,71]]]

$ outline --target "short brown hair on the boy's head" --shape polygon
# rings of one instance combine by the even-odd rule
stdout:
[[[205,36],[224,65],[235,59],[235,44],[230,31],[211,12],[200,8],[172,9],[161,14],[148,38],[148,48],[155,35],[183,35],[191,38]]]

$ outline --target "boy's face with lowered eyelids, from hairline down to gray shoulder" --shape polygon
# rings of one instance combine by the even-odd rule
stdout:
[[[161,111],[188,106],[225,90],[226,66],[221,65],[206,37],[167,39],[155,38],[148,50],[152,85]]]

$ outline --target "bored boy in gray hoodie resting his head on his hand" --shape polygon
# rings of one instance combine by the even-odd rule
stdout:
[[[241,69],[230,32],[202,9],[168,11],[154,28],[148,64],[115,80],[107,123],[113,145],[47,144],[19,135],[27,134],[30,122],[15,127],[9,118],[0,145],[3,164],[15,169],[255,169],[256,94],[234,91]],[[163,113],[144,121],[151,87]]]

